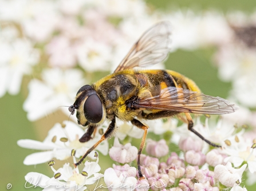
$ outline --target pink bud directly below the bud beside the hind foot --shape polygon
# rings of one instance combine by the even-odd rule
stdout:
[[[185,160],[192,165],[202,166],[206,162],[206,156],[202,152],[195,152],[193,150],[187,151]]]

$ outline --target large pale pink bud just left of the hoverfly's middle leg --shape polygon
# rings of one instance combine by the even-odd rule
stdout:
[[[137,152],[138,149],[132,146],[131,143],[121,145],[116,137],[113,147],[109,149],[109,156],[112,160],[124,164],[126,162],[135,160],[137,157]]]

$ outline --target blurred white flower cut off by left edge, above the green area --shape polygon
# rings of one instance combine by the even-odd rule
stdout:
[[[13,42],[0,40],[0,97],[6,92],[15,95],[21,88],[23,75],[30,74],[31,67],[38,63],[39,52],[25,39]]]

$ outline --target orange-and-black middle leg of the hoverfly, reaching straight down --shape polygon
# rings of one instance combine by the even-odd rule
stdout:
[[[142,173],[141,173],[141,169],[140,169],[140,155],[141,155],[141,151],[144,148],[144,144],[145,144],[145,139],[147,137],[147,132],[148,132],[148,127],[143,125],[139,120],[137,119],[133,119],[132,124],[139,127],[140,129],[144,130],[144,134],[140,143],[140,149],[138,151],[138,159],[137,159],[137,165],[138,165],[138,173],[139,173],[139,180],[144,179]]]

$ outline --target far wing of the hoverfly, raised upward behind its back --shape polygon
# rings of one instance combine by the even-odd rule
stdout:
[[[136,66],[147,67],[167,58],[171,44],[171,24],[160,22],[147,30],[133,45],[115,72]]]

